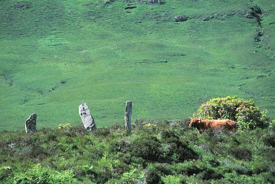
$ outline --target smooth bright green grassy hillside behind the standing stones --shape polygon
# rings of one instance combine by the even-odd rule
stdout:
[[[182,119],[227,95],[275,117],[274,1],[137,2],[1,1],[0,130],[33,112],[38,128],[81,124],[82,102],[99,127],[126,100],[133,119]]]

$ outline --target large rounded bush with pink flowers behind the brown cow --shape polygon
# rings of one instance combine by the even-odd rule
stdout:
[[[236,121],[240,129],[263,128],[266,124],[266,111],[261,112],[252,100],[237,96],[212,98],[202,104],[194,117],[206,119],[230,119]]]

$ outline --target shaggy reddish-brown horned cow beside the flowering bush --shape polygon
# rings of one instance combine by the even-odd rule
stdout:
[[[201,133],[203,130],[208,128],[226,128],[234,131],[234,128],[236,127],[236,122],[229,119],[199,119],[196,117],[190,119],[189,127],[196,127],[198,133]]]

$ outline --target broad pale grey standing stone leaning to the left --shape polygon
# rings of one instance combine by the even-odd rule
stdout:
[[[94,119],[91,116],[90,110],[85,102],[79,105],[78,111],[84,128],[88,131],[96,130]]]

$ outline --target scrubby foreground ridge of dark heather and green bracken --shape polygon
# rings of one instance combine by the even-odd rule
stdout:
[[[274,127],[198,134],[188,123],[1,132],[0,183],[274,183]]]

